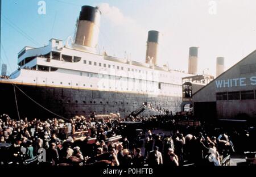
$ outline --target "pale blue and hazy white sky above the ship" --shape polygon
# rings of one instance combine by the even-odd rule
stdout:
[[[157,30],[159,65],[188,70],[189,47],[199,47],[199,74],[230,68],[256,49],[255,0],[2,0],[1,63],[17,69],[17,53],[49,39],[74,36],[82,5],[102,12],[98,50],[145,61],[147,32]],[[40,13],[39,13],[40,12]],[[42,14],[43,12],[43,14]]]

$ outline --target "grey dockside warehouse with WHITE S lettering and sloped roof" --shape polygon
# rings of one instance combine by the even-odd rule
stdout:
[[[256,50],[193,94],[203,120],[256,119]]]

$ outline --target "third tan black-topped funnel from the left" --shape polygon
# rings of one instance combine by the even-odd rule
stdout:
[[[198,47],[189,48],[188,74],[197,74]]]

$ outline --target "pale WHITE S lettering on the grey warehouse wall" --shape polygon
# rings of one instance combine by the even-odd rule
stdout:
[[[246,78],[234,78],[234,79],[224,79],[215,81],[217,88],[225,87],[241,87],[241,86],[255,86],[256,85],[256,76],[250,77],[250,82],[246,83]]]

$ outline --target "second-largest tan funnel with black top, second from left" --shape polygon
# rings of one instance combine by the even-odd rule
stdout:
[[[147,64],[152,64],[152,65],[158,64],[158,44],[159,44],[159,32],[148,31],[147,50],[146,50]]]

